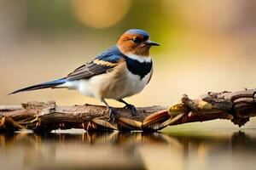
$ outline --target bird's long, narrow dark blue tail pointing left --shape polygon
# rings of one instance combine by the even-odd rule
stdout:
[[[10,94],[18,94],[20,92],[38,90],[38,89],[43,89],[43,88],[56,88],[56,86],[64,84],[65,82],[67,82],[67,79],[66,78],[61,78],[61,79],[54,80],[54,81],[51,81],[51,82],[43,82],[43,83],[36,84],[36,85],[30,86],[30,87],[27,87],[27,88],[21,88],[19,90],[16,90],[13,93],[10,93]]]

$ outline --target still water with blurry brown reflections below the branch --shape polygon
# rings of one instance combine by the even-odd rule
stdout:
[[[222,133],[220,133],[222,132]],[[256,133],[4,133],[1,169],[253,169]]]

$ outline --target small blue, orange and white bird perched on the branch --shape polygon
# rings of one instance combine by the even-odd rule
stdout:
[[[148,84],[153,72],[149,56],[151,46],[159,44],[151,41],[146,31],[128,30],[113,48],[97,55],[67,77],[22,88],[11,94],[41,88],[77,89],[81,94],[101,99],[107,105],[110,117],[114,111],[105,99],[116,99],[135,114],[136,108],[123,98],[138,94]]]

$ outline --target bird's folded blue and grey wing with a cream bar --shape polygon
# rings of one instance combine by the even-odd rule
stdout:
[[[116,65],[123,61],[123,57],[119,54],[116,47],[110,48],[90,60],[85,65],[80,66],[67,76],[67,81],[90,78],[102,73],[106,73]]]

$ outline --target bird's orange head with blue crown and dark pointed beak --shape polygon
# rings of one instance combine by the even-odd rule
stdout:
[[[150,40],[148,32],[131,29],[119,38],[117,46],[122,54],[135,54],[138,56],[149,56],[151,46],[160,46],[159,43]]]

